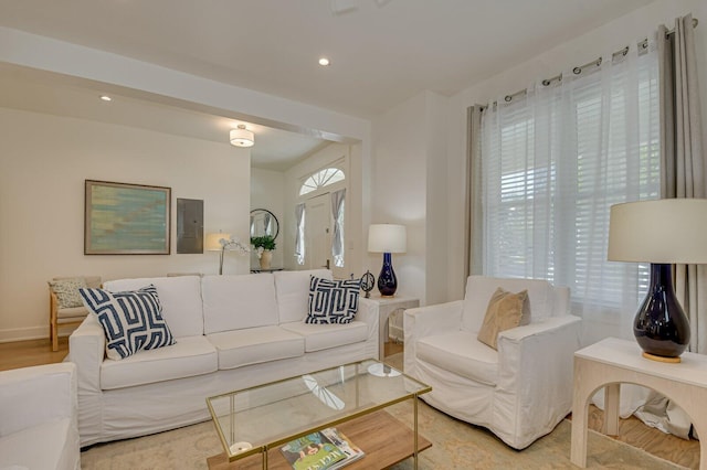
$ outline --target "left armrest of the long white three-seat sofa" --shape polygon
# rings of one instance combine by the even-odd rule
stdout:
[[[106,337],[95,314],[88,314],[68,337],[68,356],[76,364],[80,392],[101,391],[101,364],[106,353]]]

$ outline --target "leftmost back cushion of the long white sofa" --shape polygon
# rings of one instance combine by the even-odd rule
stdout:
[[[203,310],[201,307],[201,277],[156,277],[119,279],[104,282],[110,291],[135,290],[154,285],[162,303],[162,317],[175,338],[203,334]]]

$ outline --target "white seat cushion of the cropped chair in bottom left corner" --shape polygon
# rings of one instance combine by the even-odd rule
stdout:
[[[71,441],[71,425],[70,418],[63,418],[2,436],[0,469],[73,468],[78,442]]]

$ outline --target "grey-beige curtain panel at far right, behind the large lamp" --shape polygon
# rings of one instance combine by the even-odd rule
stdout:
[[[675,20],[668,34],[658,28],[661,61],[661,196],[706,197],[706,161],[701,148],[701,118],[693,17]],[[707,77],[705,77],[707,79]],[[707,353],[707,269],[677,265],[675,290],[690,321],[689,350]]]

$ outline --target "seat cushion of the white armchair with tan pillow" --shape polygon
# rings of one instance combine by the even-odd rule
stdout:
[[[493,386],[498,380],[498,352],[477,341],[475,333],[455,331],[423,338],[415,356],[482,384]]]

